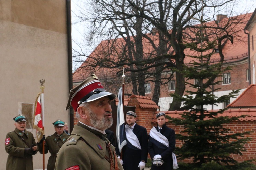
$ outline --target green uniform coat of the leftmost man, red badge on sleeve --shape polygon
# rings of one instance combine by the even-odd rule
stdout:
[[[22,132],[15,128],[6,135],[5,150],[9,154],[6,170],[33,170],[33,156],[24,153],[25,148],[30,148],[31,144],[35,144],[35,139],[33,134],[26,129]],[[33,155],[36,153],[37,150]]]

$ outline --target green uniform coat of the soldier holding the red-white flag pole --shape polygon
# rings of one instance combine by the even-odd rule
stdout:
[[[57,153],[59,152],[60,147],[67,141],[70,135],[63,133],[58,136],[55,132],[53,135],[47,136],[44,144],[44,153],[48,153],[50,151],[51,156],[49,157],[47,170],[54,170],[54,165],[56,162]],[[37,143],[38,151],[43,154],[43,142],[40,144]]]

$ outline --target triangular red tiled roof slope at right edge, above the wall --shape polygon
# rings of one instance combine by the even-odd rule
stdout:
[[[247,87],[227,108],[256,107],[256,84]]]

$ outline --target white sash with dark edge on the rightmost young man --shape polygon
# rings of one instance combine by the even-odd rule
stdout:
[[[162,149],[167,149],[169,147],[168,139],[165,136],[163,136],[163,134],[161,134],[160,132],[157,132],[155,127],[153,127],[150,130],[148,140]],[[178,169],[179,167],[177,163],[177,158],[173,152],[172,152],[172,160],[173,160],[173,169]]]

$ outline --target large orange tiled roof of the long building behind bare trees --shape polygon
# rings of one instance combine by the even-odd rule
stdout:
[[[230,41],[226,41],[226,43],[224,43],[224,47],[223,47],[223,54],[225,56],[225,62],[229,63],[229,62],[235,62],[235,61],[241,61],[245,58],[248,58],[248,45],[247,45],[247,34],[244,33],[244,27],[246,25],[246,23],[248,22],[249,18],[251,17],[252,13],[250,14],[243,14],[243,15],[239,15],[236,17],[233,17],[234,21],[232,26],[230,26],[228,28],[227,31],[230,32],[234,32],[233,36],[234,36],[234,41],[233,44]],[[235,20],[236,18],[241,19],[241,23],[237,23],[237,21]],[[230,18],[224,18],[219,24],[226,24],[228,22]],[[216,26],[216,23],[214,21],[210,21],[207,23],[208,26]],[[238,31],[239,30],[239,31]],[[170,30],[171,31],[171,30]],[[212,31],[212,30],[209,30]],[[193,34],[193,32],[190,32],[189,30],[186,30],[187,34],[191,33],[191,36],[195,36]],[[213,34],[212,38],[214,38]],[[154,38],[153,35],[148,35],[151,36],[152,39],[157,39]],[[131,37],[131,41],[133,41],[133,37]],[[115,43],[109,43],[112,42],[113,40],[105,40],[105,41],[101,41],[101,43],[95,48],[95,50],[90,54],[90,56],[86,59],[86,61],[81,65],[80,68],[78,68],[74,73],[73,73],[73,82],[82,82],[84,79],[86,79],[88,77],[89,73],[95,73],[98,77],[100,76],[100,74],[103,74],[102,72],[107,72],[108,73],[108,77],[110,77],[110,75],[115,75],[116,72],[118,71],[118,69],[108,69],[108,68],[104,68],[106,70],[100,72],[99,70],[102,68],[97,68],[95,70],[90,70],[92,72],[87,72],[84,71],[83,67],[86,67],[87,65],[93,65],[95,64],[93,61],[94,60],[99,60],[101,57],[108,57],[108,60],[118,60],[118,58],[116,57],[116,55],[121,52],[120,50],[123,50],[123,48],[120,48],[120,46],[122,47],[122,44],[124,43],[124,39],[123,38],[118,38],[116,39],[116,41],[114,41]],[[148,40],[146,38],[143,38],[142,40],[143,43],[143,52],[145,54],[147,53],[151,53],[152,46],[150,46]],[[116,54],[115,52],[113,52],[113,54],[105,56],[102,54],[108,53],[108,49],[112,46],[116,46],[118,48],[115,48],[116,50]],[[172,53],[173,49],[171,48],[169,53]],[[184,53],[186,55],[185,59],[184,59],[184,63],[190,63],[191,60],[194,60],[193,58],[189,57],[189,55],[197,55],[195,54],[195,51],[190,50],[190,49],[185,49]],[[209,53],[209,52],[204,52],[204,54]],[[119,56],[119,55],[117,55]],[[146,55],[145,55],[146,57]],[[215,53],[213,54],[213,56],[211,57],[211,62],[218,62],[219,61],[219,53]],[[119,70],[120,71],[120,70]],[[113,73],[113,74],[112,74]]]

